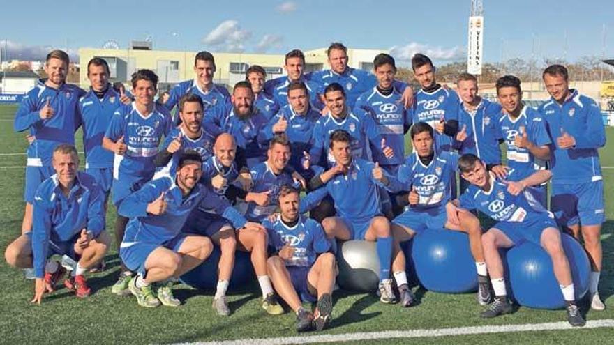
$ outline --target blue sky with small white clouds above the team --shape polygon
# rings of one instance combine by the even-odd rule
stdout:
[[[125,48],[130,40],[148,36],[155,49],[285,53],[340,40],[348,47],[396,47],[401,60],[417,51],[429,52],[440,63],[465,59],[470,0],[164,3],[6,1],[1,4],[0,42],[7,40],[9,58],[22,59],[50,47],[73,52],[101,47],[106,40]],[[606,57],[614,58],[612,0],[484,0],[484,17],[486,61],[600,57],[604,25]]]

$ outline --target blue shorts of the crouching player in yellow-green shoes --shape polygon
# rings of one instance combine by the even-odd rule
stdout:
[[[132,242],[121,243],[119,247],[119,257],[126,267],[133,271],[140,273],[143,277],[146,274],[145,261],[149,257],[149,254],[156,250],[157,247],[165,247],[173,252],[179,252],[179,247],[184,243],[186,234],[179,233],[174,238],[167,240],[165,243],[153,243],[153,242]]]

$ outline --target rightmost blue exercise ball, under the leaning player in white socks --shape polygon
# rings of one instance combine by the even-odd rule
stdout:
[[[574,281],[576,300],[588,291],[590,261],[578,241],[561,234],[561,240]],[[557,282],[550,255],[541,246],[525,241],[507,251],[506,279],[509,296],[519,305],[537,309],[565,307],[563,294]]]

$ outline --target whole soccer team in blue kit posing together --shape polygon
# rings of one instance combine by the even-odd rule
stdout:
[[[561,291],[552,293],[562,293],[569,323],[585,324],[562,230],[583,239],[592,263],[588,303],[605,308],[597,289],[604,127],[594,100],[569,89],[564,66],[544,70],[552,97],[534,109],[511,75],[497,80],[496,103],[477,94],[467,73],[457,91],[437,84],[424,54],[412,58],[419,90],[395,79],[388,54],[375,57],[373,74],[347,66],[341,43],[327,54],[329,70],[304,74],[304,54],[292,50],[287,76],[266,82],[264,68],[250,66],[231,95],[213,82],[214,56],[199,52],[195,79],[156,98],[151,70],[135,72],[126,91],[109,82],[106,61],[93,58],[84,91],[66,84],[68,55],[50,52],[47,79],[15,114],[15,130],[28,131],[26,208],[22,235],[5,256],[33,268],[32,302],[65,274],[68,289],[89,296],[84,273],[100,269],[111,246],[112,197],[121,259],[112,292],[143,307],[181,305],[173,284],[219,247],[218,270],[209,273],[219,315],[231,313],[225,295],[240,250],[250,253],[267,313],[283,314],[281,298],[297,314],[297,330],[322,330],[333,308],[337,240],[352,239],[376,243],[380,300],[410,307],[400,243],[445,228],[468,235],[477,300],[488,305],[481,316],[513,311],[498,249],[527,240],[551,256]],[[483,231],[476,211],[496,224]],[[70,273],[54,254],[73,260]],[[313,311],[303,302],[315,303]]]

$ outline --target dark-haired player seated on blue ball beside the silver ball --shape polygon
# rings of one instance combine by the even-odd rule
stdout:
[[[400,183],[411,188],[408,197],[410,205],[392,221],[392,271],[401,303],[404,307],[409,307],[414,298],[408,289],[405,254],[400,249],[400,243],[426,229],[450,229],[469,235],[479,282],[477,300],[481,305],[488,305],[491,293],[481,246],[479,220],[470,212],[458,213],[460,224],[449,224],[446,217],[446,204],[450,200],[453,185],[451,181],[456,178],[458,154],[448,151],[437,153],[433,144],[433,128],[427,123],[414,123],[410,135],[414,153],[400,166],[397,177]]]

